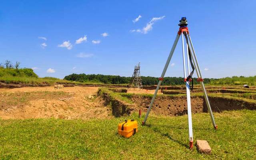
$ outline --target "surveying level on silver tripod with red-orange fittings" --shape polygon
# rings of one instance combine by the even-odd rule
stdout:
[[[201,74],[201,71],[200,71],[200,68],[199,68],[199,64],[198,64],[198,61],[197,61],[197,58],[196,58],[196,53],[195,53],[195,50],[194,50],[194,46],[193,46],[191,38],[190,38],[190,34],[189,34],[189,31],[188,31],[188,27],[187,27],[187,25],[188,25],[187,18],[186,17],[182,17],[181,20],[180,20],[180,24],[178,24],[178,25],[180,26],[178,34],[176,36],[176,39],[174,41],[174,44],[172,46],[172,49],[170,51],[170,54],[168,56],[168,59],[166,61],[165,66],[164,66],[164,70],[163,70],[163,72],[161,74],[161,77],[158,78],[159,79],[158,85],[156,87],[154,96],[153,96],[153,98],[152,98],[152,100],[150,102],[150,106],[148,108],[148,111],[146,113],[144,121],[142,121],[142,125],[144,125],[146,123],[146,120],[148,118],[148,114],[150,113],[150,110],[151,110],[151,108],[153,106],[153,103],[154,103],[154,100],[156,98],[156,94],[157,94],[157,92],[158,92],[158,90],[160,88],[160,85],[161,85],[162,81],[164,80],[164,75],[165,75],[166,70],[168,68],[168,65],[170,63],[170,60],[172,59],[172,55],[174,53],[174,50],[175,50],[176,45],[178,43],[178,40],[179,40],[179,38],[181,36],[182,37],[182,54],[183,54],[184,82],[186,83],[186,94],[187,94],[187,104],[188,104],[189,148],[191,149],[193,147],[193,130],[192,130],[190,90],[193,89],[193,78],[192,78],[192,75],[194,73],[194,70],[196,70],[196,74],[198,76],[197,81],[200,82],[200,85],[201,85],[203,93],[204,93],[204,98],[205,98],[205,101],[206,101],[208,112],[209,112],[211,120],[212,120],[212,125],[214,126],[215,129],[217,129],[218,126],[216,125],[215,120],[214,120],[214,116],[212,114],[212,109],[211,109],[210,102],[209,102],[209,99],[208,99],[208,96],[207,96],[207,93],[206,93],[206,89],[205,89],[205,86],[204,86],[204,79],[202,78],[202,74]],[[187,54],[188,76],[186,76],[184,37],[186,39],[186,54]],[[192,72],[190,72],[189,64],[191,65]]]

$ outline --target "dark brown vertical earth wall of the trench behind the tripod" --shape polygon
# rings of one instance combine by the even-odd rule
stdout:
[[[146,112],[151,101],[150,97],[138,95],[133,95],[132,97],[129,97],[129,99],[134,102],[134,105],[126,105],[122,102],[116,102],[114,105],[112,105],[113,115],[129,115],[132,112],[137,112],[139,109],[141,109],[142,112]],[[247,100],[211,96],[209,96],[209,100],[213,112],[222,112],[224,110],[256,109],[256,103]],[[203,96],[192,96],[191,108],[192,113],[208,112],[206,101],[204,100]],[[156,97],[151,110],[151,112],[156,115],[164,116],[182,116],[187,114],[187,111],[188,108],[186,96],[158,96]]]

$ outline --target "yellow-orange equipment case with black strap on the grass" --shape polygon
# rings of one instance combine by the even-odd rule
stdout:
[[[118,124],[118,134],[129,138],[138,132],[138,122],[136,120],[125,120]]]

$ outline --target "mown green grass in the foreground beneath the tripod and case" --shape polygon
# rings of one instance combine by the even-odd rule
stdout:
[[[212,155],[188,149],[187,116],[150,115],[147,126],[129,139],[117,134],[127,118],[110,120],[0,120],[0,157],[7,159],[256,159],[256,111],[193,114],[194,141],[207,140]]]

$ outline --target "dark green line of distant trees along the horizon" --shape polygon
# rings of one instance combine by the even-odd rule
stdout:
[[[124,76],[112,76],[103,74],[70,74],[64,77],[65,80],[72,80],[76,82],[101,82],[104,84],[129,84],[131,77]],[[157,77],[141,76],[142,85],[151,86],[158,83]],[[194,78],[194,84],[199,84]],[[204,78],[204,83],[210,83],[214,78]],[[180,85],[184,84],[184,78],[182,77],[165,77],[162,85]]]

